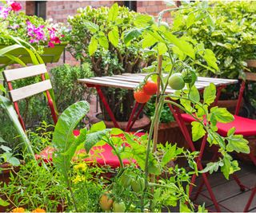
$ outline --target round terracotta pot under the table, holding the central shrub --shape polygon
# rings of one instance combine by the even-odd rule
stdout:
[[[88,115],[88,118],[89,118],[89,121],[91,124],[95,124],[95,123],[98,123],[100,121],[102,121],[99,117],[101,115],[101,112],[98,112],[98,113],[94,113],[94,114],[89,114]],[[114,124],[112,121],[108,121],[108,120],[103,120],[104,123],[106,124],[106,128],[114,128]],[[118,122],[118,125],[119,127],[122,129],[122,130],[125,130],[126,129],[126,126],[127,126],[127,123],[128,122],[120,122],[120,121],[117,121]],[[136,122],[134,123],[134,126],[133,128],[130,129],[131,132],[136,132],[138,130],[145,130],[148,128],[150,124],[150,119],[143,114],[142,118],[136,120]]]

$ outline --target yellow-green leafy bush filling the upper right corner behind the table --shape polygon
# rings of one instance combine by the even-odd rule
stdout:
[[[201,5],[190,3],[189,7],[175,11],[172,30],[174,34],[193,38],[206,49],[204,59],[218,72],[214,74],[198,65],[200,75],[236,78],[245,69],[246,60],[256,58],[256,3],[214,1],[204,10],[198,10]],[[203,18],[202,13],[208,16]],[[201,60],[200,63],[204,64]]]

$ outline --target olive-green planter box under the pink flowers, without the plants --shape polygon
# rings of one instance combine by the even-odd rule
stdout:
[[[65,49],[67,42],[62,42],[61,44],[54,45],[53,48],[46,46],[44,48],[44,53],[41,55],[42,60],[45,63],[58,62],[59,58],[62,55],[63,50]],[[0,49],[5,48],[8,45],[0,45]],[[26,49],[18,48],[9,52],[14,57],[19,57],[25,64],[33,64],[31,61],[30,54],[26,51]],[[0,64],[9,64],[10,58],[0,56]],[[16,62],[14,62],[16,64]]]

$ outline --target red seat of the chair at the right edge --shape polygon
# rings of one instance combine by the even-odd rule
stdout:
[[[182,119],[185,122],[191,123],[194,118],[185,113],[182,114]],[[226,136],[230,128],[235,128],[236,135],[256,136],[256,120],[252,120],[242,116],[234,116],[234,120],[228,124],[218,123],[218,133],[221,136]]]

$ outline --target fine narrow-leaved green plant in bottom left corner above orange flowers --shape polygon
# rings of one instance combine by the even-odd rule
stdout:
[[[10,173],[10,183],[1,187],[2,195],[6,195],[9,198],[6,201],[14,203],[14,207],[26,206],[30,211],[40,207],[47,212],[59,211],[58,205],[64,207],[68,191],[59,184],[59,175],[54,168],[46,170],[38,166],[38,162],[27,161],[14,174]]]

